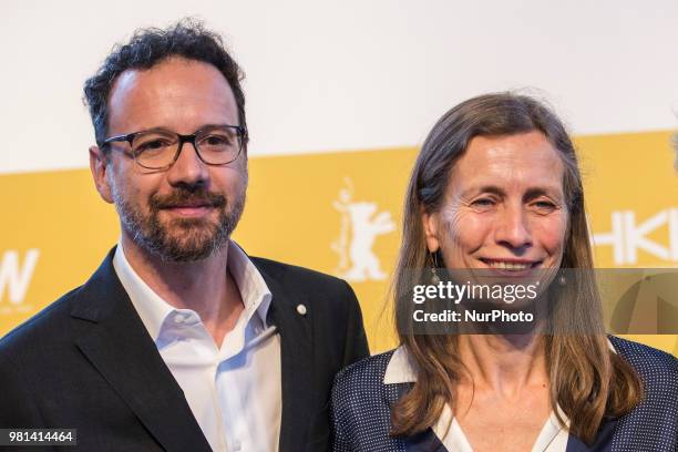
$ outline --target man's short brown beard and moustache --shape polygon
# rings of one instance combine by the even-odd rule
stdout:
[[[188,263],[213,256],[226,244],[243,214],[245,189],[227,199],[203,187],[178,187],[166,196],[152,195],[147,215],[115,189],[113,201],[122,227],[135,244],[164,261]],[[216,223],[210,218],[160,218],[163,208],[194,203],[217,209]]]

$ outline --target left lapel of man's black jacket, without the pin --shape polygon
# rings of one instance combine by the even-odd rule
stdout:
[[[115,275],[112,256],[81,289],[76,346],[167,451],[209,451],[184,393]]]

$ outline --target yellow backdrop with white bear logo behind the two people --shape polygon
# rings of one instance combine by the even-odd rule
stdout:
[[[596,266],[678,264],[670,132],[576,140]],[[257,256],[345,277],[372,351],[394,345],[387,295],[417,150],[253,158],[236,240]],[[82,284],[119,236],[88,170],[0,176],[0,335]],[[677,336],[633,337],[678,356]]]

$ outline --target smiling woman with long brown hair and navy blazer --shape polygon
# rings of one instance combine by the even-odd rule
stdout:
[[[400,347],[337,377],[335,451],[678,450],[677,360],[605,335],[588,237],[574,146],[547,107],[500,93],[450,110],[405,199]],[[413,287],[439,266],[579,271],[540,292],[548,315],[521,335],[419,333]]]

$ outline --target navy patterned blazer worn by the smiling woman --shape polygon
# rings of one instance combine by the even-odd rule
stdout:
[[[567,452],[678,451],[678,360],[654,348],[609,337],[638,372],[645,399],[628,414],[605,422],[592,446],[569,436]],[[389,407],[409,383],[384,384],[393,351],[349,366],[335,380],[331,398],[335,452],[445,452],[432,429],[407,439],[389,436]],[[453,452],[453,451],[449,451]]]

